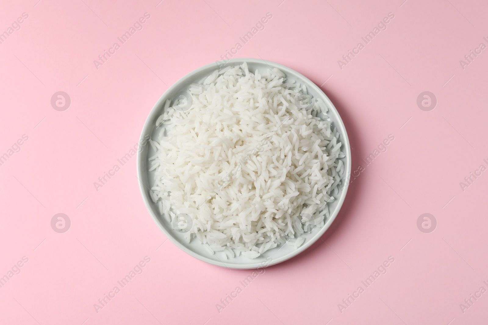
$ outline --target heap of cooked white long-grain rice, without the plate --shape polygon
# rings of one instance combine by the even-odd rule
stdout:
[[[187,110],[166,101],[150,140],[160,212],[224,259],[298,248],[304,229],[324,225],[344,170],[339,134],[317,116],[325,103],[280,70],[253,74],[246,63],[188,93]]]

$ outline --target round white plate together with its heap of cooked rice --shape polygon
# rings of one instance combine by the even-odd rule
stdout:
[[[332,102],[281,64],[235,58],[178,80],[142,129],[142,198],[176,246],[260,268],[310,247],[346,197],[351,152]]]

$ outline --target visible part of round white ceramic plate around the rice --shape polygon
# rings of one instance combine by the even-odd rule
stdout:
[[[176,246],[191,256],[207,263],[227,268],[249,269],[265,267],[286,261],[287,259],[290,259],[293,256],[303,252],[324,234],[325,230],[330,227],[330,224],[334,221],[335,217],[339,213],[339,210],[341,209],[346,197],[347,187],[349,184],[348,175],[350,175],[351,172],[351,150],[349,146],[349,139],[347,138],[346,128],[344,127],[341,116],[339,116],[339,113],[329,98],[325,96],[324,92],[312,81],[281,64],[255,58],[230,59],[224,65],[221,65],[220,68],[224,68],[228,65],[235,66],[244,62],[247,62],[249,71],[253,73],[256,69],[259,70],[261,74],[264,74],[265,71],[270,67],[280,69],[286,74],[286,78],[288,80],[296,80],[300,84],[305,84],[308,94],[311,94],[315,98],[322,98],[322,100],[324,100],[328,106],[329,110],[327,112],[327,116],[330,118],[330,120],[332,120],[332,125],[335,126],[340,133],[339,140],[343,145],[341,151],[344,152],[346,156],[342,158],[345,167],[345,172],[343,173],[343,184],[341,185],[339,193],[335,197],[335,201],[329,204],[330,216],[327,218],[327,220],[325,220],[325,225],[321,228],[315,227],[310,233],[303,234],[302,237],[305,238],[305,243],[298,249],[294,249],[294,247],[284,244],[264,252],[261,256],[255,259],[246,258],[241,254],[238,257],[225,260],[223,256],[220,255],[223,254],[223,252],[211,254],[209,250],[206,249],[196,238],[193,238],[189,244],[186,243],[183,238],[183,234],[174,230],[171,223],[168,223],[164,216],[160,214],[157,203],[153,203],[149,194],[149,189],[154,184],[154,172],[148,172],[148,169],[151,166],[148,161],[148,157],[154,155],[155,151],[148,143],[146,143],[146,141],[144,141],[144,139],[147,139],[149,136],[152,139],[158,139],[159,130],[156,130],[156,120],[161,114],[163,114],[164,102],[166,99],[173,100],[179,92],[186,91],[191,83],[198,83],[203,79],[203,77],[210,75],[214,70],[218,69],[216,63],[207,64],[201,68],[198,68],[197,70],[190,72],[178,80],[174,85],[169,87],[169,89],[154,105],[151,113],[149,113],[149,116],[144,123],[144,127],[142,128],[140,143],[145,144],[142,145],[137,156],[137,173],[142,199],[144,200],[147,210],[159,228],[163,230],[166,237],[168,237]]]

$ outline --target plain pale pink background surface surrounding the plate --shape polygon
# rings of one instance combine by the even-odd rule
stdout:
[[[0,288],[1,324],[486,323],[488,293],[460,307],[488,289],[488,172],[460,186],[488,167],[488,50],[460,64],[488,45],[486,1],[37,1],[0,8],[0,32],[28,14],[0,44],[0,155],[28,136],[0,166],[0,276],[28,258]],[[143,29],[96,69],[146,12]],[[341,69],[390,12],[387,29]],[[139,141],[168,86],[237,42],[233,57],[278,62],[322,85],[346,124],[353,171],[395,137],[353,180],[322,240],[247,287],[239,281],[251,270],[203,263],[166,241],[143,205],[135,157],[93,185]],[[71,98],[63,112],[50,103],[58,91]],[[437,98],[430,112],[416,103],[424,91]],[[51,228],[57,213],[69,216],[67,232]],[[417,228],[423,213],[436,218],[433,232]],[[97,313],[145,256],[142,274]],[[386,274],[341,312],[389,256]]]

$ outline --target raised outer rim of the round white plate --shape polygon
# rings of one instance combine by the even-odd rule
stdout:
[[[221,62],[221,61],[215,61],[213,63],[205,64],[204,66],[202,66],[200,68],[197,68],[197,69],[195,69],[195,70],[187,73],[186,75],[184,75],[183,77],[181,77],[180,79],[178,79],[178,81],[176,81],[168,89],[166,89],[166,91],[163,93],[163,95],[156,101],[156,103],[154,104],[153,108],[151,109],[151,111],[147,115],[146,120],[144,121],[144,125],[142,127],[141,136],[140,136],[140,139],[139,139],[139,144],[141,143],[141,141],[144,140],[145,134],[148,134],[148,129],[150,129],[150,127],[151,127],[150,124],[152,123],[152,121],[154,119],[154,116],[153,115],[155,115],[157,111],[160,111],[161,110],[163,101],[166,99],[165,98],[166,94],[172,92],[175,88],[180,87],[183,83],[186,83],[188,78],[190,78],[190,77],[198,74],[199,72],[201,72],[203,70],[208,69],[211,66],[215,66],[218,62]],[[337,203],[337,206],[335,207],[335,210],[330,214],[329,219],[325,222],[325,224],[322,227],[322,229],[320,229],[320,231],[317,234],[315,234],[315,236],[313,236],[308,241],[306,241],[298,249],[295,249],[295,250],[291,251],[290,253],[288,253],[288,254],[280,257],[280,258],[276,258],[276,259],[273,259],[272,258],[272,260],[269,261],[269,262],[252,262],[253,260],[250,259],[250,263],[236,264],[236,263],[230,262],[230,260],[224,260],[224,261],[229,261],[229,262],[222,262],[218,257],[217,257],[217,259],[219,259],[219,261],[214,261],[212,259],[209,259],[209,258],[207,258],[207,257],[205,257],[205,256],[203,256],[203,255],[201,255],[201,254],[199,254],[199,253],[197,253],[197,252],[195,252],[195,251],[193,251],[191,249],[188,249],[185,246],[183,246],[178,241],[178,239],[176,239],[173,236],[172,233],[170,233],[169,231],[166,231],[166,229],[161,224],[159,218],[156,216],[156,213],[155,213],[155,211],[153,210],[153,208],[151,206],[152,199],[149,197],[149,194],[146,193],[146,191],[144,190],[144,188],[146,186],[142,182],[142,177],[143,177],[142,165],[144,165],[144,164],[142,164],[142,159],[143,159],[143,157],[142,157],[143,154],[142,153],[144,152],[144,150],[138,150],[138,152],[137,152],[137,164],[136,164],[136,168],[137,168],[137,176],[138,176],[137,178],[138,178],[138,183],[139,183],[139,190],[141,191],[142,200],[144,201],[144,205],[146,206],[146,209],[148,210],[148,212],[151,215],[151,217],[154,220],[154,222],[163,231],[163,233],[167,237],[167,239],[171,240],[171,242],[173,242],[173,244],[175,244],[178,248],[182,249],[185,253],[187,253],[190,256],[195,257],[195,258],[197,258],[197,259],[199,259],[199,260],[201,260],[203,262],[206,262],[206,263],[209,263],[209,264],[212,264],[212,265],[216,265],[216,266],[219,266],[219,267],[224,267],[224,268],[255,269],[255,268],[264,268],[264,267],[268,267],[268,266],[271,266],[271,265],[276,265],[276,264],[285,262],[286,260],[289,260],[289,259],[291,259],[291,258],[299,255],[300,253],[302,253],[303,251],[305,251],[305,249],[308,249],[317,240],[319,240],[319,238],[321,238],[324,235],[325,231],[327,229],[329,229],[330,225],[332,224],[332,222],[334,222],[335,218],[339,214],[339,211],[342,208],[342,205],[344,203],[344,200],[346,199],[347,190],[349,188],[349,183],[350,183],[350,174],[351,174],[351,149],[350,149],[350,144],[349,144],[349,138],[348,138],[347,132],[346,132],[346,126],[345,126],[345,124],[344,124],[344,122],[343,122],[343,120],[341,118],[341,115],[339,114],[339,112],[335,108],[334,104],[329,99],[329,97],[313,81],[311,81],[306,76],[302,75],[301,73],[299,73],[299,72],[297,72],[297,71],[295,71],[295,70],[293,70],[293,69],[291,69],[291,68],[289,68],[289,67],[287,67],[285,65],[282,65],[280,63],[276,63],[276,62],[273,62],[273,61],[269,61],[269,60],[264,60],[264,59],[245,58],[245,57],[242,57],[242,58],[231,58],[229,60],[226,60],[225,63],[222,64],[222,65],[232,65],[232,64],[236,64],[236,63],[242,64],[244,62],[248,62],[248,63],[263,63],[264,62],[264,63],[270,65],[270,67],[273,66],[273,68],[278,68],[278,69],[282,70],[285,74],[286,73],[291,73],[292,75],[295,75],[297,77],[302,78],[303,81],[306,83],[307,89],[310,88],[310,87],[311,88],[314,88],[316,92],[318,92],[319,94],[322,94],[325,97],[326,103],[327,103],[327,106],[328,106],[329,110],[334,111],[334,113],[337,115],[337,118],[338,118],[338,121],[337,122],[340,124],[340,126],[342,127],[342,130],[344,131],[344,132],[341,132],[341,136],[343,138],[344,145],[346,146],[346,156],[344,158],[346,158],[346,162],[347,162],[347,171],[344,173],[344,176],[343,176],[343,180],[344,180],[344,185],[342,186],[343,194],[339,198],[339,201]],[[221,69],[221,66],[217,66],[217,68]],[[149,144],[146,143],[145,145],[148,146]],[[146,158],[145,159],[147,159],[147,154],[146,154]],[[149,181],[149,179],[147,179],[147,181]]]

